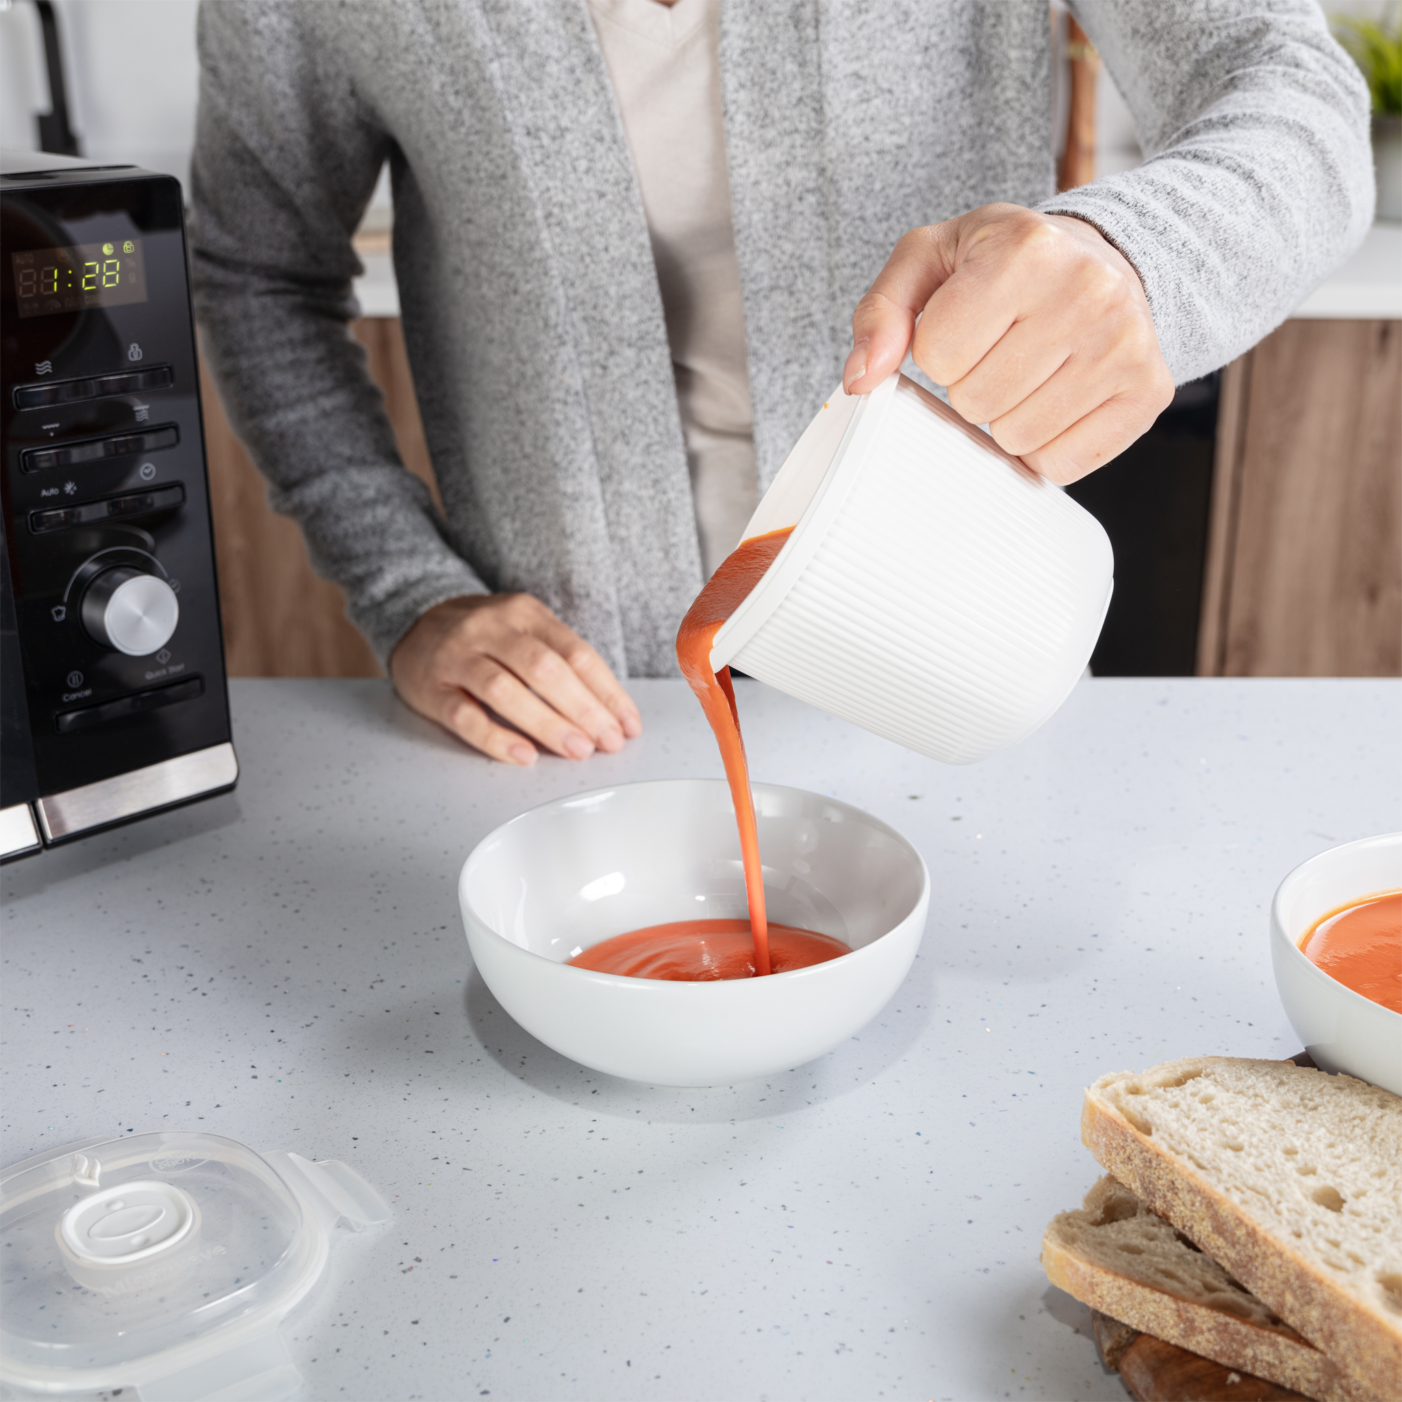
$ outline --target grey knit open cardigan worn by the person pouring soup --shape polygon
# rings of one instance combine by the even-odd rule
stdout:
[[[911,227],[1078,215],[1176,380],[1277,325],[1373,217],[1367,93],[1308,0],[1080,0],[1148,161],[1053,196],[1047,0],[732,0],[721,73],[761,489]],[[381,659],[527,590],[620,676],[701,586],[658,279],[583,0],[205,0],[193,266],[237,432]],[[443,495],[346,332],[383,163]]]

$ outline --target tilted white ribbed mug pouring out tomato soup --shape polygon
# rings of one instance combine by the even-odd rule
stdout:
[[[1101,523],[899,374],[823,405],[744,534],[785,526],[712,666],[951,764],[1057,709],[1110,603]]]

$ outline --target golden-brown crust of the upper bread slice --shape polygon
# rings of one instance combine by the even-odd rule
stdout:
[[[1141,1075],[1148,1080],[1179,1070],[1197,1074],[1234,1060],[1190,1057],[1151,1067]],[[1136,1129],[1101,1094],[1102,1087],[1127,1074],[1102,1077],[1085,1092],[1081,1138],[1096,1162],[1364,1388],[1382,1399],[1402,1398],[1402,1321],[1391,1323],[1342,1293],[1288,1242],[1252,1221],[1192,1164]]]

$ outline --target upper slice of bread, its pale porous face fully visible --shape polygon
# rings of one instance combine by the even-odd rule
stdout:
[[[1380,1398],[1402,1398],[1402,1099],[1288,1061],[1102,1075],[1101,1166]]]

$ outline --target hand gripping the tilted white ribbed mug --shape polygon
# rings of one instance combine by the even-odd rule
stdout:
[[[1173,398],[1129,259],[1085,220],[1021,205],[901,238],[852,314],[843,387],[875,390],[907,349],[959,414],[1053,482],[1102,467]]]

